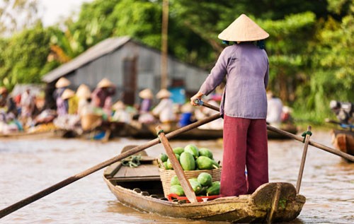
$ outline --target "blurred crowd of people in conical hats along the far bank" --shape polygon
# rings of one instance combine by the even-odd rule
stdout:
[[[115,84],[103,78],[91,91],[81,84],[76,90],[69,88],[67,78],[59,78],[55,83],[53,98],[56,110],[46,109],[38,104],[38,96],[30,88],[16,96],[0,88],[0,134],[19,131],[38,131],[42,124],[53,124],[53,129],[74,130],[77,133],[91,130],[100,122],[122,122],[130,124],[176,124],[186,126],[217,113],[207,107],[193,107],[190,102],[178,104],[171,99],[167,89],[159,90],[156,95],[146,88],[139,92],[139,105],[125,105],[122,100],[113,102]],[[222,95],[215,93],[203,99],[210,105],[219,107]],[[268,92],[267,121],[278,126],[290,119],[290,108],[282,105],[271,91]],[[95,123],[96,122],[96,123]],[[222,119],[200,126],[201,129],[222,129]]]

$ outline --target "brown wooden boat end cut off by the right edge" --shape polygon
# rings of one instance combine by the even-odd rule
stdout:
[[[332,144],[335,148],[354,155],[354,131],[332,129]]]

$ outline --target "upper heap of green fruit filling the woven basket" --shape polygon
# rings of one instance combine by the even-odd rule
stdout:
[[[212,155],[212,151],[208,148],[198,148],[193,144],[183,147],[173,148],[178,162],[183,170],[212,170],[219,168]],[[165,153],[160,155],[161,161],[164,163],[166,170],[173,170],[171,161]]]

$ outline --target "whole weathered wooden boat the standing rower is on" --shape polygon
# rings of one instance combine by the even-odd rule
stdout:
[[[230,196],[196,204],[169,201],[154,158],[143,158],[138,167],[110,165],[103,179],[118,201],[126,206],[173,218],[233,223],[286,222],[294,220],[306,199],[290,183],[263,184],[251,195]]]

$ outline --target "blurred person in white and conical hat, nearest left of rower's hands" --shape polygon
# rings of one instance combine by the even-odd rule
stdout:
[[[160,122],[169,123],[176,121],[176,114],[173,111],[173,101],[170,99],[171,93],[169,90],[161,89],[156,94],[156,98],[161,99],[159,104],[156,105],[152,114],[159,117]]]

